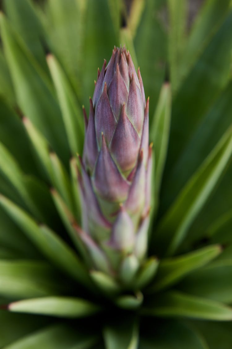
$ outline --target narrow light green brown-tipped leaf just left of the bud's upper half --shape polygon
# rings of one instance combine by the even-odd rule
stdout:
[[[49,54],[47,56],[47,62],[56,88],[59,105],[62,110],[70,149],[73,155],[76,153],[82,154],[84,138],[82,110],[80,110],[80,106],[77,103],[72,87],[57,59]]]

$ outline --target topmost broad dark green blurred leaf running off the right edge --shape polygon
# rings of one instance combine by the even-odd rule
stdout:
[[[165,184],[202,117],[230,79],[232,10],[211,38],[173,101]],[[196,102],[197,101],[197,102]],[[169,190],[163,193],[163,209],[170,204]],[[167,198],[168,197],[168,198]]]

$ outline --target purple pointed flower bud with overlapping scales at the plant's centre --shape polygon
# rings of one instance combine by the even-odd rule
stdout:
[[[148,127],[149,99],[140,71],[137,76],[125,47],[114,47],[109,64],[104,61],[98,69],[90,98],[80,176],[85,243],[108,256],[112,273],[125,256],[139,261],[146,253],[152,166]],[[119,263],[110,260],[112,252]]]

